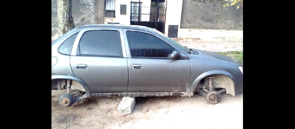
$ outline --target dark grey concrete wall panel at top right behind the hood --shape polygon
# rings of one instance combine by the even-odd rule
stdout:
[[[243,29],[243,9],[239,4],[223,7],[223,2],[183,0],[181,28]]]

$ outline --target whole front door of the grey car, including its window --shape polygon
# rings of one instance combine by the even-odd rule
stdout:
[[[129,79],[127,92],[184,92],[189,83],[189,60],[173,60],[178,48],[146,31],[123,29]]]

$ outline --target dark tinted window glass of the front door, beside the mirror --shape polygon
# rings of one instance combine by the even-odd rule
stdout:
[[[127,31],[132,57],[166,57],[175,50],[159,38],[141,32]]]

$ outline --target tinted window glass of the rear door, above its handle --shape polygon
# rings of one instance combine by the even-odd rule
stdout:
[[[119,31],[97,30],[83,34],[78,55],[123,57]]]

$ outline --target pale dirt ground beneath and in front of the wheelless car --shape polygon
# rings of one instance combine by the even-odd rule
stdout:
[[[71,107],[58,104],[66,93],[51,91],[51,128],[243,128],[243,94],[223,94],[215,105],[199,94],[191,97],[136,97],[131,114],[119,113],[122,97],[84,98]]]

